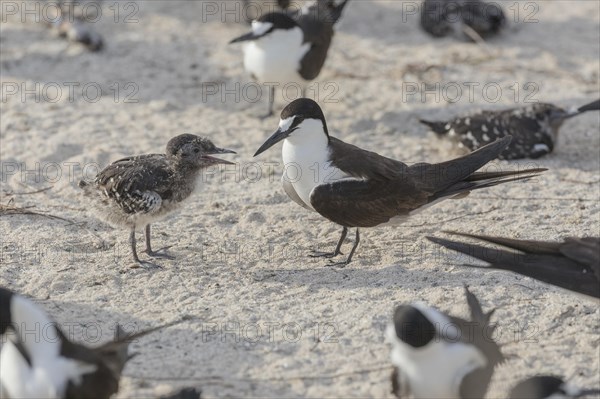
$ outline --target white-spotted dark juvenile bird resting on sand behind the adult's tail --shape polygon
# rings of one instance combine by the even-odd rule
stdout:
[[[563,122],[582,112],[597,110],[598,101],[575,110],[565,110],[553,104],[536,103],[501,111],[482,111],[450,121],[421,120],[439,136],[448,136],[459,147],[473,151],[497,139],[512,136],[513,140],[500,159],[539,158],[554,150]]]

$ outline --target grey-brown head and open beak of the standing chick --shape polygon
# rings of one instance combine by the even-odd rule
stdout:
[[[235,154],[235,152],[219,148],[207,138],[187,133],[173,137],[167,143],[167,157],[175,158],[185,166],[203,168],[214,164],[233,164],[233,162],[212,157],[211,155],[214,154]]]

